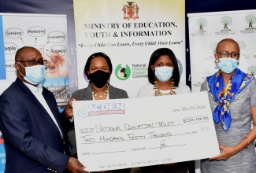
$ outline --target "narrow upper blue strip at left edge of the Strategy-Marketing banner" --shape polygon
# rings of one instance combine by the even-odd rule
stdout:
[[[0,79],[6,79],[6,61],[4,36],[2,31],[2,16],[0,16]]]

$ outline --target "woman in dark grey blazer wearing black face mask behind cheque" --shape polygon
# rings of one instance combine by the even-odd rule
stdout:
[[[109,84],[109,78],[112,73],[112,63],[105,53],[93,53],[88,57],[84,67],[84,75],[89,80],[89,85],[81,90],[76,90],[72,94],[69,105],[65,107],[64,114],[66,117],[72,116],[72,101],[87,101],[87,100],[107,100],[128,98],[125,90],[121,90]],[[76,135],[74,123],[68,123],[68,139],[71,145],[71,154],[77,158],[76,151]],[[130,172],[131,169],[122,169],[109,172]]]

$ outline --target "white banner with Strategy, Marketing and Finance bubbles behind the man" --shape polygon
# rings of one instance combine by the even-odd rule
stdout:
[[[54,93],[59,109],[69,99],[67,59],[67,19],[65,15],[0,13],[1,74],[0,94],[17,78],[14,57],[18,49],[32,46],[47,60],[46,79],[42,85]]]

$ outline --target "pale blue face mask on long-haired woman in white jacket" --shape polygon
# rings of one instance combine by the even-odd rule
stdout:
[[[159,67],[154,68],[154,75],[161,81],[166,82],[173,76],[173,68],[171,67]]]

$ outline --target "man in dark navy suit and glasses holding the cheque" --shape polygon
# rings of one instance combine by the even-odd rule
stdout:
[[[33,47],[15,56],[17,79],[0,96],[0,131],[6,145],[6,172],[88,172],[67,155],[62,117],[49,90],[39,83],[46,61]]]

